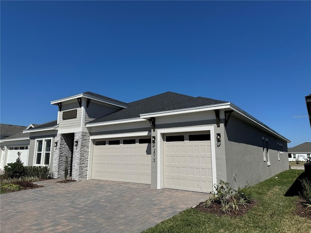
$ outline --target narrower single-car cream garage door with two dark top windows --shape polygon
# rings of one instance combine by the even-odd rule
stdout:
[[[167,134],[163,143],[165,188],[213,190],[209,133]]]

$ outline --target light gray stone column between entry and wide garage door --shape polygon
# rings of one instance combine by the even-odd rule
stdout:
[[[74,133],[74,141],[78,141],[78,146],[73,148],[72,160],[72,179],[86,180],[88,168],[89,154],[89,133],[79,132]]]

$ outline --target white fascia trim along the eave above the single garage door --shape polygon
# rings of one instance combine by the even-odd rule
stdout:
[[[229,102],[207,105],[207,106],[199,106],[199,107],[193,107],[193,108],[175,109],[175,110],[156,112],[156,113],[146,113],[146,114],[140,114],[139,116],[141,118],[150,118],[150,117],[157,117],[157,116],[171,116],[171,115],[184,114],[184,113],[197,113],[197,112],[204,112],[204,111],[217,110],[217,109],[226,109],[226,108],[228,109],[230,108]]]

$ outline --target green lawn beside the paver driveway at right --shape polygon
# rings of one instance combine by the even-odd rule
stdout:
[[[294,214],[298,196],[285,197],[303,170],[289,169],[251,187],[257,205],[244,216],[228,217],[187,209],[144,233],[311,233],[311,220]]]

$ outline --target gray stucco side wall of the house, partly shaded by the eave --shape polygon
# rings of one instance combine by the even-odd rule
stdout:
[[[268,138],[269,162],[263,159],[263,142]],[[284,153],[278,160],[277,143]],[[225,127],[227,182],[234,188],[253,185],[289,168],[287,143],[241,119],[231,116]]]

